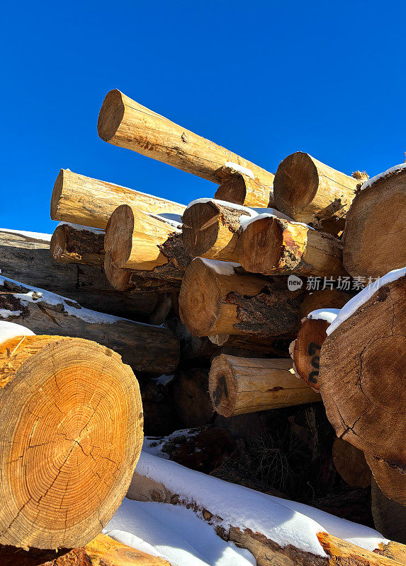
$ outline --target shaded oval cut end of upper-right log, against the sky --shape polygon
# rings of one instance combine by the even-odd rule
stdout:
[[[302,151],[289,155],[274,178],[276,207],[294,218],[312,202],[318,185],[319,175],[312,158]]]

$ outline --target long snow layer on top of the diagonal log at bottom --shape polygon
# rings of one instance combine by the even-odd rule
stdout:
[[[317,533],[321,531],[354,542],[366,550],[377,548],[380,542],[388,542],[369,527],[339,519],[305,504],[279,499],[189,470],[145,451],[141,452],[135,471],[162,483],[184,501],[196,503],[199,508],[220,517],[220,524],[225,529],[230,529],[230,526],[251,529],[281,546],[291,544],[305,552],[326,556],[317,539]],[[129,497],[130,492],[131,487]]]

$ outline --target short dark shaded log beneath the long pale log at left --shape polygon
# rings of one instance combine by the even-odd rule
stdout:
[[[104,231],[61,222],[52,234],[50,253],[57,262],[103,267]]]

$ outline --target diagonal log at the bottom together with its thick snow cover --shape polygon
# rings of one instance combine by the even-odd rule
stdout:
[[[141,453],[127,497],[192,509],[212,525],[219,536],[250,550],[259,566],[327,566],[329,555],[317,536],[320,533],[331,533],[323,538],[330,541],[330,545],[334,536],[342,539],[341,543],[344,541],[367,551],[378,549],[378,545],[384,548],[389,543],[369,527],[188,470],[145,451]],[[351,565],[365,566],[366,562],[357,554],[359,549],[353,550]],[[372,562],[374,566],[379,563]],[[349,562],[336,564],[344,566]]]

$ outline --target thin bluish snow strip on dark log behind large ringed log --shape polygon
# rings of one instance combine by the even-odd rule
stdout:
[[[20,285],[24,287],[24,289],[29,289],[26,293],[18,293],[11,291],[13,296],[17,299],[21,299],[21,303],[23,305],[27,305],[28,303],[47,303],[53,306],[62,306],[63,312],[76,316],[77,318],[81,318],[86,323],[91,324],[114,324],[116,322],[120,322],[120,320],[125,320],[126,322],[134,322],[134,320],[128,320],[128,318],[120,318],[120,316],[113,316],[111,314],[99,313],[98,311],[91,311],[89,308],[84,308],[74,301],[73,299],[67,299],[62,295],[57,295],[56,293],[52,293],[51,291],[45,291],[45,289],[39,289],[38,287],[31,287],[30,285],[26,285],[25,283],[21,283],[15,281],[14,279],[9,279],[9,277],[4,277],[0,275],[0,285],[4,286],[4,282],[9,281],[16,285]],[[142,324],[145,326],[151,326],[145,323],[136,323],[137,325]]]

